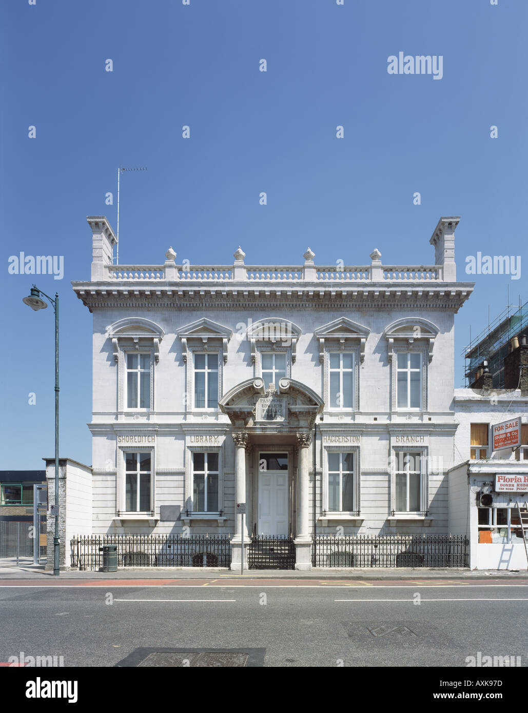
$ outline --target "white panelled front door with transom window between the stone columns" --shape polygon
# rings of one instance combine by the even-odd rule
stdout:
[[[282,469],[259,469],[258,534],[288,535],[288,456],[285,453],[261,453],[259,462],[263,466],[279,462]]]

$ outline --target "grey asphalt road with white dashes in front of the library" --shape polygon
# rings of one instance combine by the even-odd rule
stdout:
[[[33,584],[0,588],[0,662],[24,652],[114,666],[145,648],[260,650],[268,667],[465,667],[478,652],[528,662],[527,584]]]

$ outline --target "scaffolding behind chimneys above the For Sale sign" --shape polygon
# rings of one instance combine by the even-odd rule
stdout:
[[[509,352],[509,340],[519,337],[520,341],[522,336],[528,337],[528,302],[519,304],[519,307],[509,304],[464,348],[462,356],[467,359],[465,376],[469,384],[474,381],[474,374],[482,361],[487,359],[493,388],[504,388],[504,357]]]

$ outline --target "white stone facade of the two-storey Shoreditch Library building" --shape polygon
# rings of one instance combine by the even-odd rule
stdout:
[[[113,265],[88,217],[95,534],[447,533],[458,217],[432,265]],[[420,256],[421,257],[421,256]],[[84,516],[84,515],[83,515]]]

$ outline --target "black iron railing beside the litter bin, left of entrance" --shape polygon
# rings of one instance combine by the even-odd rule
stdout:
[[[103,545],[117,545],[118,567],[229,567],[229,535],[75,535],[71,561],[81,570],[103,566]]]

